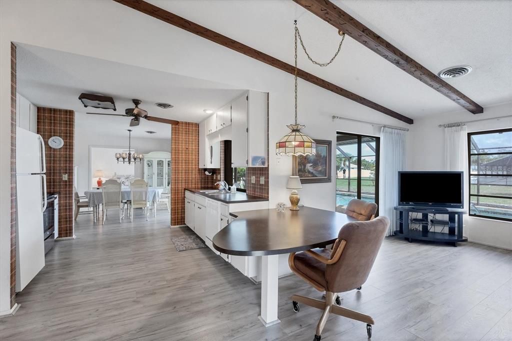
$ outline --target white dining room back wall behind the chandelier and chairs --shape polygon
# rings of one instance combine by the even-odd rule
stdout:
[[[98,119],[94,120],[98,124]],[[126,122],[125,122],[126,123]],[[163,124],[163,123],[162,123]],[[127,127],[119,125],[118,129],[125,130]],[[134,138],[132,137],[132,149],[136,153],[150,153],[150,152],[169,152],[170,153],[170,126],[169,133],[166,137],[160,138]],[[158,135],[158,134],[156,134]],[[78,166],[78,183],[77,190],[80,195],[83,191],[90,188],[89,180],[89,146],[102,146],[102,147],[116,147],[119,150],[128,149],[128,133],[126,136],[108,136],[95,133],[94,124],[91,124],[91,117],[77,113],[75,115],[75,165]],[[114,153],[115,154],[115,153]],[[112,162],[115,163],[114,154],[112,154]],[[144,172],[144,165],[141,163],[135,164],[135,177],[142,178]],[[105,174],[109,176],[109,174]],[[106,180],[106,179],[105,179]]]

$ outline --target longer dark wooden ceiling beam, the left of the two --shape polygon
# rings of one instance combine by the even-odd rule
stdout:
[[[167,24],[179,27],[185,31],[194,33],[200,37],[203,37],[210,41],[216,42],[217,44],[220,44],[228,49],[240,52],[248,57],[257,59],[257,60],[264,62],[270,66],[273,66],[274,68],[278,68],[278,69],[288,72],[292,75],[295,74],[295,67],[282,61],[282,60],[274,58],[274,57],[272,57],[268,54],[265,54],[261,51],[255,50],[247,45],[242,44],[241,42],[238,42],[229,37],[226,37],[225,35],[211,31],[211,30],[207,29],[206,27],[203,27],[196,23],[190,22],[189,20],[182,18],[182,17],[180,17],[174,13],[171,13],[169,11],[166,11],[158,6],[152,5],[152,4],[142,1],[142,0],[114,0],[114,1],[119,4],[125,5],[127,7],[133,8],[134,10],[137,10],[141,13],[144,13],[144,14],[150,15],[154,18],[157,18],[159,20],[162,20],[163,22],[165,22]],[[407,116],[404,116],[397,112],[394,112],[393,110],[390,110],[390,109],[386,108],[385,106],[382,106],[375,102],[372,102],[371,100],[366,99],[365,97],[359,96],[357,94],[354,94],[353,92],[343,89],[342,87],[338,87],[336,84],[328,82],[327,80],[319,78],[319,77],[317,77],[313,74],[310,74],[304,70],[298,69],[297,77],[300,77],[310,83],[313,83],[316,86],[319,86],[326,90],[332,91],[340,96],[343,96],[345,98],[353,100],[359,104],[368,106],[368,108],[379,111],[383,114],[386,114],[388,116],[396,118],[400,121],[403,121],[403,122],[406,122],[409,124],[414,123],[414,121]]]

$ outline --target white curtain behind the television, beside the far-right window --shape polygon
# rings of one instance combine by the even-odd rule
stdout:
[[[467,126],[444,128],[444,164],[446,171],[464,172],[464,207],[468,208]]]

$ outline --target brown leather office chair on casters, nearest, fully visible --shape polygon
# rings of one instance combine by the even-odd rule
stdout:
[[[339,231],[332,250],[314,249],[290,254],[290,269],[316,290],[326,292],[325,301],[301,295],[291,296],[295,312],[300,310],[299,303],[324,311],[313,340],[321,339],[330,313],[366,322],[368,337],[372,336],[372,325],[375,324],[373,318],[340,307],[337,293],[359,290],[366,282],[388,227],[389,219],[386,217],[351,222]]]

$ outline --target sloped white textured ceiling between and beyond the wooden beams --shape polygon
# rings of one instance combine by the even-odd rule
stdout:
[[[294,19],[314,59],[329,60],[340,39],[334,27],[291,1],[150,2],[290,64]],[[471,65],[472,73],[447,82],[484,109],[512,101],[512,2],[334,3],[434,73]],[[461,109],[349,37],[329,67],[312,65],[303,51],[298,52],[298,66],[412,118]]]

